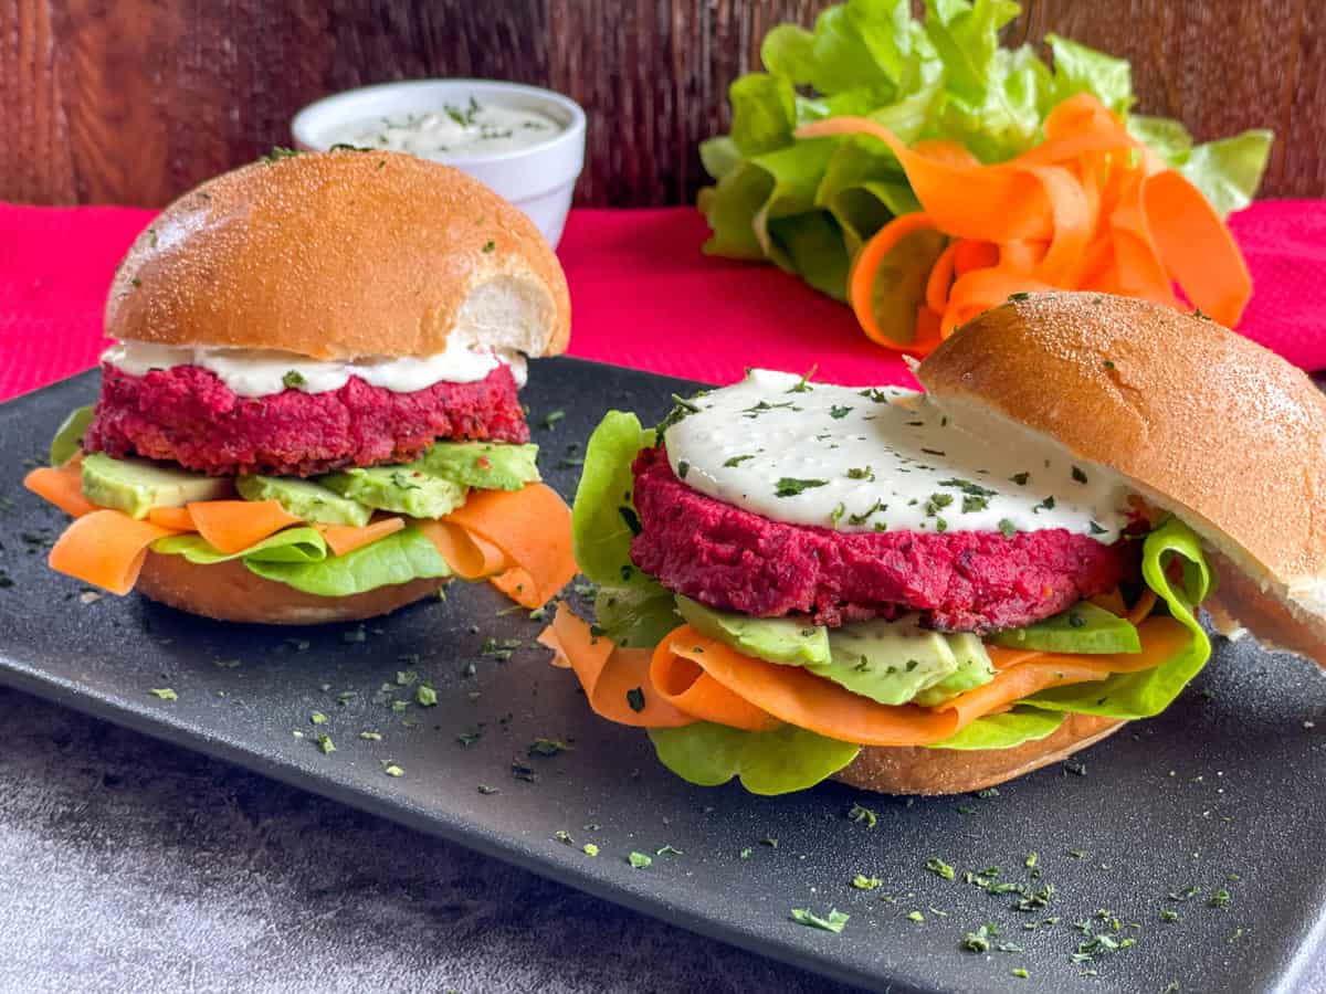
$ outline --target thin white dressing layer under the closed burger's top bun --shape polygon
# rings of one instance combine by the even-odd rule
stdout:
[[[325,394],[358,376],[394,394],[412,394],[434,383],[475,383],[499,366],[511,366],[516,386],[525,384],[525,359],[518,353],[497,354],[471,349],[455,337],[435,355],[365,357],[330,362],[294,353],[213,346],[171,346],[117,342],[101,360],[131,376],[176,366],[202,366],[215,372],[237,396],[271,396],[282,390]]]

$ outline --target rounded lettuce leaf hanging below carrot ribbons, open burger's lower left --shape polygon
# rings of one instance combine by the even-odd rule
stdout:
[[[701,787],[741,778],[752,794],[790,794],[831,777],[857,758],[861,746],[817,736],[796,725],[772,732],[697,721],[683,728],[648,730],[659,762]]]

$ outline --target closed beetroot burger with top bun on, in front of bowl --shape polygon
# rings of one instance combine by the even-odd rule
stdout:
[[[281,154],[134,243],[95,407],[28,486],[76,517],[53,569],[235,622],[369,618],[452,575],[529,606],[570,579],[517,390],[566,347],[557,258],[461,172]]]

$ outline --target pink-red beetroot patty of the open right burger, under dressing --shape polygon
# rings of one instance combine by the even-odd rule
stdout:
[[[837,626],[920,611],[941,631],[988,632],[1058,614],[1128,571],[1123,542],[1065,529],[839,533],[770,521],[676,478],[663,448],[631,467],[640,533],[631,559],[668,590],[756,618]]]

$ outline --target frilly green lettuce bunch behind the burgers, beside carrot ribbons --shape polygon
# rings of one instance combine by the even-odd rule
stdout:
[[[1090,93],[1132,134],[1183,172],[1221,213],[1246,207],[1266,167],[1269,131],[1193,144],[1176,121],[1130,118],[1128,62],[1055,34],[1052,62],[1032,45],[1005,48],[1000,30],[1020,13],[1012,0],[849,0],[808,30],[773,28],[762,72],[729,90],[732,129],[700,146],[715,186],[700,192],[709,254],[766,260],[842,300],[853,254],[899,213],[918,209],[892,152],[859,137],[804,140],[797,127],[869,117],[904,142],[948,139],[981,162],[1004,162],[1042,138],[1046,114]],[[903,272],[922,266],[914,258]],[[915,290],[876,301],[890,325],[915,314]]]

